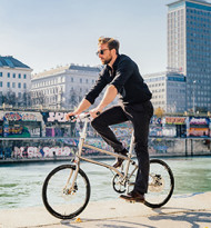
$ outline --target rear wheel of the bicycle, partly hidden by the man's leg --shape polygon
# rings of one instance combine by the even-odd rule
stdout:
[[[151,159],[149,188],[148,194],[145,195],[144,205],[150,208],[162,207],[171,198],[173,189],[174,178],[170,167],[163,160]]]

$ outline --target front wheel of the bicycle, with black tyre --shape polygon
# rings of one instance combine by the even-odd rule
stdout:
[[[54,168],[43,182],[42,200],[44,207],[57,218],[71,219],[81,214],[89,202],[91,188],[82,169],[79,169],[74,190],[71,190],[70,194],[70,190],[64,187],[68,182],[67,177],[69,178],[70,172],[73,174],[74,170],[74,165],[61,165]]]

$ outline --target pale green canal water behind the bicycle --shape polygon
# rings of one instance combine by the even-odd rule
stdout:
[[[174,195],[211,191],[211,157],[163,159],[175,179]],[[101,160],[112,163],[113,160]],[[63,163],[63,162],[62,162]],[[0,166],[0,209],[42,206],[46,176],[61,162]],[[97,165],[81,162],[91,184],[91,199],[109,200],[119,195],[112,188],[112,174]]]

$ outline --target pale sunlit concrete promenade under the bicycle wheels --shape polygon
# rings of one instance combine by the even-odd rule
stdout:
[[[44,207],[0,210],[0,228],[211,228],[211,191],[175,195],[162,208],[122,199],[90,201],[70,220],[52,217]]]

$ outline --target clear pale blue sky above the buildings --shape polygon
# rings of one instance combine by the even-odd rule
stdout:
[[[32,73],[100,65],[98,38],[120,41],[140,72],[167,69],[167,3],[172,0],[0,0],[0,56]]]

